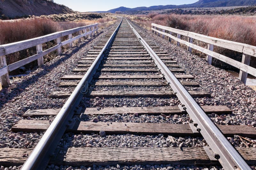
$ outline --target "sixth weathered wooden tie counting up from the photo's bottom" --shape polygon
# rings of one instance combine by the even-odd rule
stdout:
[[[83,75],[65,75],[61,79],[62,80],[80,80],[84,76]],[[176,78],[184,78],[184,79],[194,79],[192,75],[175,75]],[[146,76],[100,76],[98,79],[156,79],[163,78],[162,75],[146,75]]]

